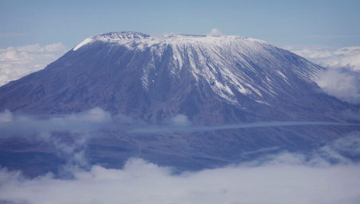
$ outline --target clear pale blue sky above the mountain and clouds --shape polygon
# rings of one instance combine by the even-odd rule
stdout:
[[[0,0],[0,48],[110,31],[222,34],[277,46],[360,45],[360,0]]]

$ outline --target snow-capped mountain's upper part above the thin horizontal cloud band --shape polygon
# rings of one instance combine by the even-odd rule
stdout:
[[[70,113],[99,106],[151,122],[177,114],[199,123],[339,120],[336,112],[348,105],[319,91],[319,70],[242,36],[112,32],[2,86],[0,109]]]

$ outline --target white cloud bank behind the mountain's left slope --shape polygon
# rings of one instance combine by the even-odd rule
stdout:
[[[0,49],[0,85],[43,69],[67,49],[62,43],[26,45]]]

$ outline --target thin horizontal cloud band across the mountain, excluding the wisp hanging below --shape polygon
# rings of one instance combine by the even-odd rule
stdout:
[[[345,114],[345,113],[344,113]],[[357,114],[351,110],[346,112]],[[345,116],[345,115],[344,115]],[[353,117],[352,117],[353,118]],[[170,122],[162,125],[147,124],[143,120],[135,120],[124,114],[111,116],[101,108],[88,111],[64,114],[36,116],[12,113],[8,110],[0,112],[0,138],[46,136],[52,132],[70,132],[72,134],[88,134],[101,129],[120,131],[124,133],[162,133],[162,132],[204,132],[228,129],[243,129],[257,127],[283,127],[303,125],[358,125],[357,123],[342,123],[328,121],[259,121],[239,124],[219,124],[212,126],[192,125],[187,116],[178,114]]]

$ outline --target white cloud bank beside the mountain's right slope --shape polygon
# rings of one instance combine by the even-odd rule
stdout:
[[[340,49],[288,46],[285,49],[327,68],[319,73],[316,81],[326,93],[360,104],[360,46]]]

